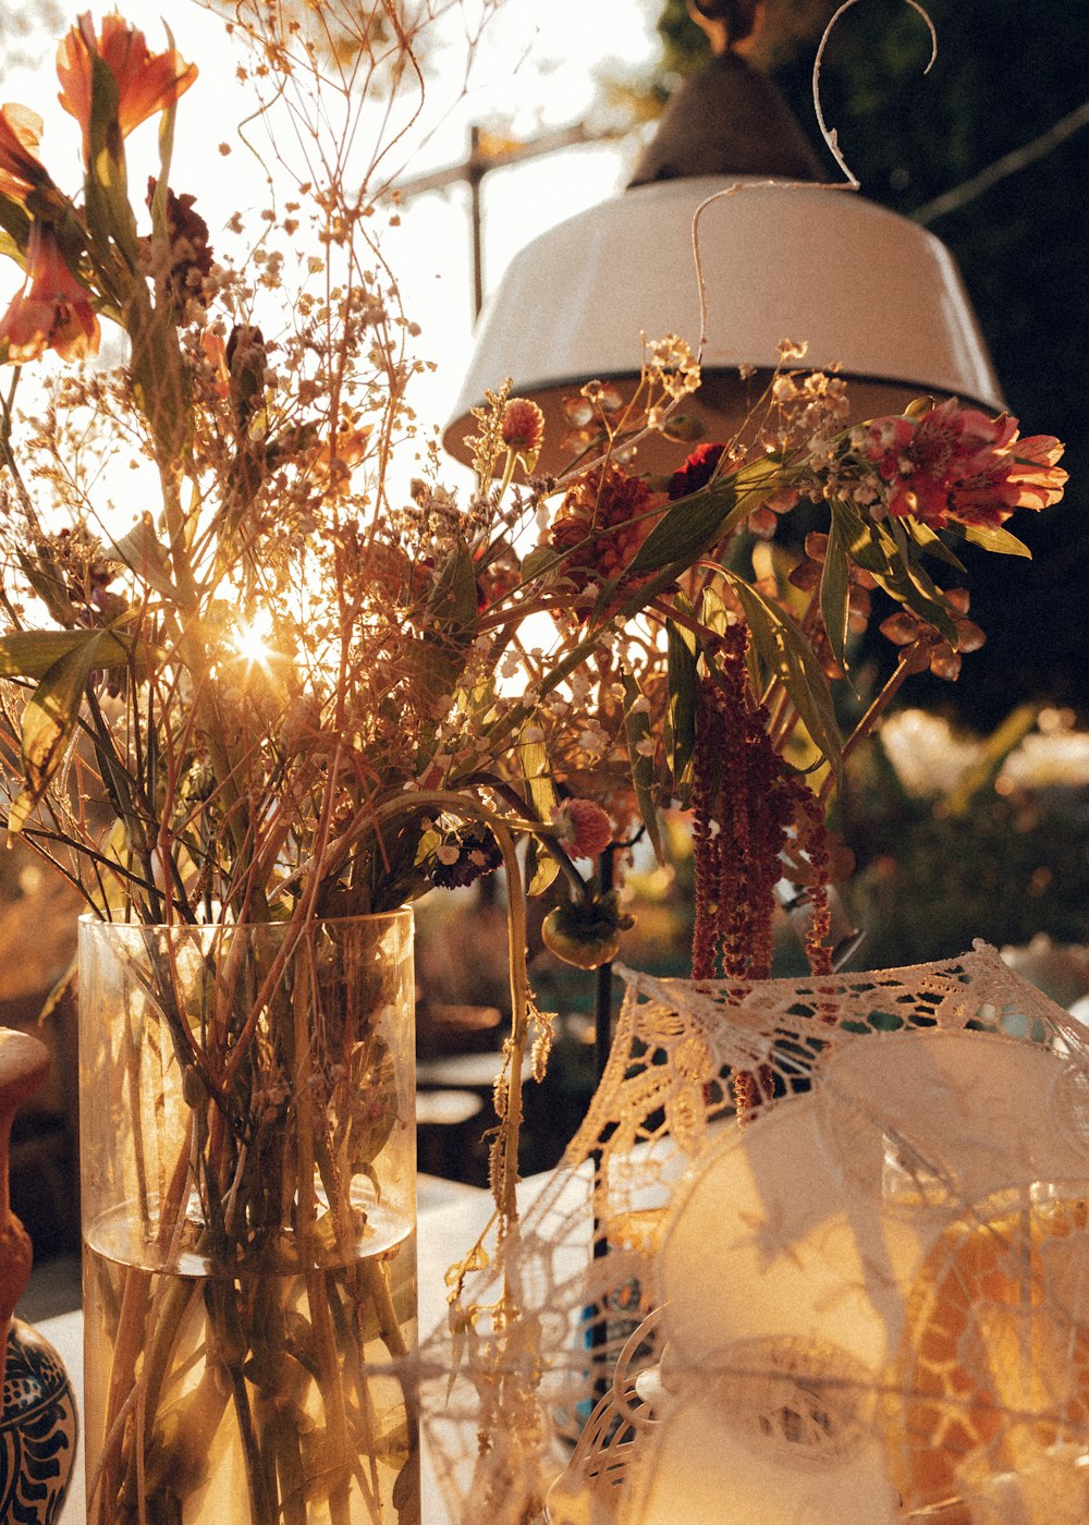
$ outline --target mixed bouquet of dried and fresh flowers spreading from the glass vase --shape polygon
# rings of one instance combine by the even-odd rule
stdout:
[[[541,415],[500,384],[477,413],[468,502],[435,471],[400,497],[390,462],[416,363],[374,232],[386,145],[351,180],[337,166],[372,125],[368,90],[422,88],[419,37],[387,0],[337,12],[331,38],[320,8],[235,11],[255,93],[271,82],[322,169],[268,212],[250,268],[221,261],[197,198],[171,189],[175,116],[197,84],[174,46],[149,52],[119,15],[82,17],[61,43],[76,197],[46,169],[35,114],[0,111],[0,236],[24,271],[0,317],[3,825],[93,915],[146,929],[276,923],[302,938],[503,865],[514,1022],[493,1183],[511,1218],[522,1061],[534,1028],[538,1071],[549,1040],[523,891],[558,898],[546,938],[561,956],[607,961],[624,915],[575,860],[634,820],[660,851],[657,811],[676,801],[695,822],[697,974],[769,971],[784,852],[808,866],[810,953],[827,968],[824,807],[840,758],[909,674],[955,677],[981,642],[967,593],[929,564],[958,569],[958,540],[1023,552],[1005,520],[1060,497],[1062,447],[956,401],[848,429],[843,383],[789,369],[802,352],[784,343],[743,436],[645,477],[639,439],[676,432],[699,386],[697,357],[668,336],[647,346],[633,396],[589,381],[569,400],[561,479],[534,474]],[[148,119],[162,163],[134,206],[125,140]],[[110,368],[93,363],[102,320],[124,340]],[[23,406],[31,364],[43,377]],[[113,500],[136,499],[113,486],[117,462],[139,467],[140,511],[122,528]],[[827,511],[805,558],[753,557],[799,503]],[[831,685],[874,595],[894,607],[882,628],[900,659],[845,740]],[[265,1084],[291,1019],[267,979],[259,990]],[[207,1124],[194,1147],[206,1225],[226,1182],[256,1202],[268,1170],[224,1122],[232,1087],[256,1083],[256,1008],[220,1016],[215,1040],[175,1026]],[[325,1122],[311,1127],[320,1156]],[[220,1337],[246,1345],[250,1315],[230,1318]],[[264,1520],[290,1466],[258,1487],[262,1444],[249,1461]],[[125,1450],[122,1498],[130,1466]]]

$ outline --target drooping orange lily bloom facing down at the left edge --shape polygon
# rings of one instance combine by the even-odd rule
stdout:
[[[98,354],[99,326],[84,287],[69,270],[52,224],[34,221],[23,290],[0,317],[0,345],[21,364],[55,349],[61,360]]]

